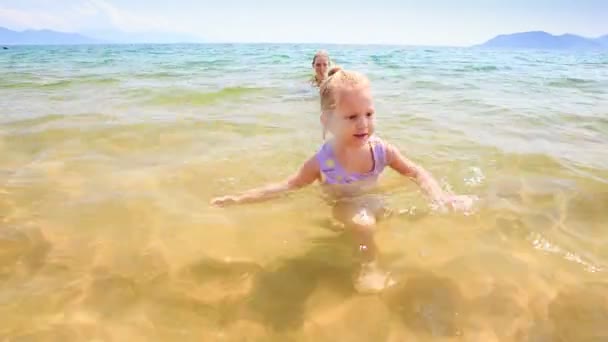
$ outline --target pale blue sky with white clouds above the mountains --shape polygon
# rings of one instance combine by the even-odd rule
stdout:
[[[544,30],[608,34],[608,0],[0,0],[0,26],[179,32],[220,42],[470,45]]]

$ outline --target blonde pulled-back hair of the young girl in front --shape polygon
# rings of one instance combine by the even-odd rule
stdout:
[[[340,101],[340,91],[364,87],[369,87],[369,79],[361,73],[344,70],[341,67],[334,67],[329,70],[327,79],[323,81],[319,89],[324,140],[327,134],[328,115],[336,109]]]

